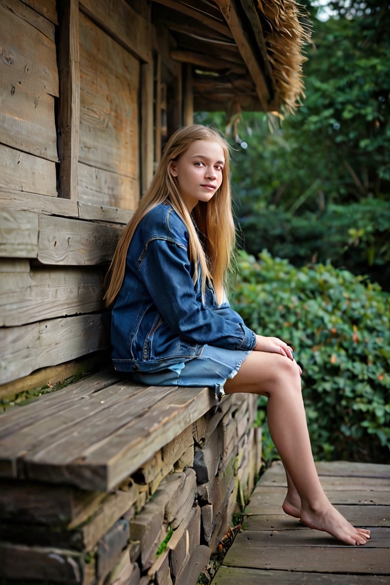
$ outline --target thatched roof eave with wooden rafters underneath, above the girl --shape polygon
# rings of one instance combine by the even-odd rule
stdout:
[[[191,64],[198,111],[292,111],[310,28],[295,0],[154,0],[171,57]]]

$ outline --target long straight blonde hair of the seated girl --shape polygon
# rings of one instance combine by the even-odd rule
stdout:
[[[222,184],[210,201],[199,202],[192,216],[199,231],[205,236],[203,245],[198,238],[194,222],[181,198],[177,178],[171,173],[171,161],[178,160],[195,140],[209,140],[218,143],[225,155]],[[126,254],[130,240],[141,219],[156,205],[170,202],[188,229],[189,259],[194,264],[194,283],[198,279],[198,264],[201,267],[203,296],[206,282],[213,285],[218,304],[225,297],[227,276],[232,267],[235,230],[230,194],[230,152],[229,145],[218,131],[203,125],[186,126],[177,130],[168,140],[163,156],[149,189],[141,198],[139,207],[127,224],[116,247],[115,254],[106,275],[105,301],[109,307],[115,301],[125,276]]]

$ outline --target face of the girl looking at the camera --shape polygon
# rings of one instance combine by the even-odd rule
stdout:
[[[178,160],[171,161],[171,173],[190,213],[198,201],[210,201],[219,189],[224,164],[222,146],[212,140],[194,140]]]

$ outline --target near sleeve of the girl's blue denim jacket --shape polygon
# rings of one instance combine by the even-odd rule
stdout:
[[[164,238],[150,240],[139,271],[158,312],[176,335],[233,350],[256,345],[254,332],[229,305],[213,310],[196,297],[186,246]]]

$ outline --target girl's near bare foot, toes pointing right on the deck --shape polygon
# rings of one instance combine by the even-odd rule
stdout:
[[[303,524],[328,532],[337,540],[347,545],[365,545],[370,538],[370,531],[365,528],[355,528],[339,511],[328,501],[325,507],[301,509],[299,518]]]

